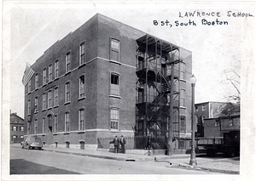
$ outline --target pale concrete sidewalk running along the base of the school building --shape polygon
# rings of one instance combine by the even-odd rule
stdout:
[[[20,146],[19,144],[11,144],[11,146]],[[190,166],[189,160],[190,155],[177,154],[172,156],[163,155],[139,155],[139,154],[116,154],[108,151],[101,150],[79,150],[79,149],[67,149],[67,148],[56,148],[54,146],[44,146],[44,151],[53,151],[65,154],[73,154],[78,156],[91,156],[104,159],[112,159],[117,161],[161,161],[167,162],[172,167],[182,167],[187,169],[199,169],[208,170],[215,173],[229,173],[239,174],[240,160],[239,157],[235,158],[224,158],[224,157],[196,157],[197,166]]]

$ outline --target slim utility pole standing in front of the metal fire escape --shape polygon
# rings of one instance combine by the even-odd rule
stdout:
[[[172,59],[172,58],[171,58]],[[170,93],[170,120],[168,127],[168,156],[172,156],[172,123],[173,123],[173,80],[174,80],[174,63],[172,63],[171,72],[171,93]]]

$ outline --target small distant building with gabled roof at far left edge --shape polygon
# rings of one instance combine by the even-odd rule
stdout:
[[[20,144],[24,138],[24,119],[17,113],[10,114],[10,144]]]

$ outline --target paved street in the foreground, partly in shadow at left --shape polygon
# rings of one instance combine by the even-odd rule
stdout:
[[[10,147],[11,174],[219,174],[172,167],[166,162],[115,161]]]

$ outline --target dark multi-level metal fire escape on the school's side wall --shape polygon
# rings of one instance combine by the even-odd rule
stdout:
[[[172,138],[179,137],[180,61],[177,46],[149,35],[137,39],[137,149],[166,149],[171,116]]]

